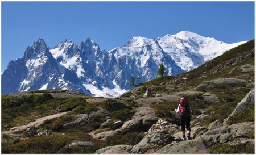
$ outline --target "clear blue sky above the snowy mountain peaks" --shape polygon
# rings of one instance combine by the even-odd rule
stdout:
[[[2,2],[2,72],[39,37],[51,48],[90,37],[108,51],[133,36],[182,30],[225,43],[254,39],[254,2]]]

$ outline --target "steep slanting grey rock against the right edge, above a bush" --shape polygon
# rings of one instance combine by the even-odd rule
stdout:
[[[240,111],[240,110],[242,110],[244,108],[247,108],[247,107],[254,106],[254,104],[255,104],[254,95],[255,95],[255,89],[253,88],[249,91],[249,93],[246,94],[246,96],[241,100],[241,102],[237,104],[237,107],[234,109],[232,114],[230,114],[228,116],[228,118],[226,118],[224,120],[223,124],[228,125],[228,121],[229,121],[230,116],[233,116],[234,114],[236,114],[237,111]]]

